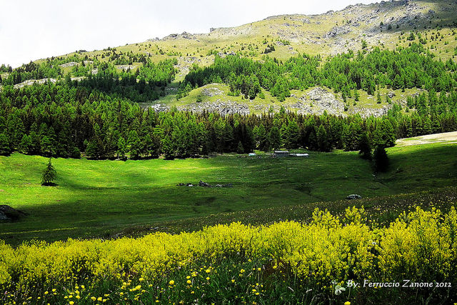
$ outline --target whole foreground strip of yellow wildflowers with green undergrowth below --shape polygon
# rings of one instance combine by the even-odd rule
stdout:
[[[0,244],[0,299],[5,304],[425,299],[449,304],[456,300],[456,228],[454,208],[448,214],[417,208],[387,227],[369,224],[364,209],[348,208],[341,218],[316,209],[309,224],[233,223],[177,235],[17,249]]]

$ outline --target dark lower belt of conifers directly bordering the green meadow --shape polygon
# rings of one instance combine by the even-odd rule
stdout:
[[[115,83],[90,89],[91,81],[97,80],[4,87],[0,93],[0,153],[79,158],[84,152],[91,159],[160,155],[173,159],[283,147],[353,151],[361,149],[365,138],[372,147],[387,147],[398,137],[457,130],[456,111],[402,114],[398,105],[386,116],[368,118],[301,115],[283,108],[278,113],[244,116],[176,109],[156,112],[106,93],[111,92],[109,88],[116,90]],[[104,91],[96,89],[102,87]],[[425,98],[430,109],[428,99],[433,96]]]

